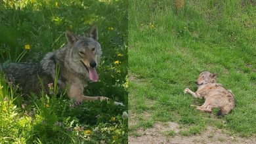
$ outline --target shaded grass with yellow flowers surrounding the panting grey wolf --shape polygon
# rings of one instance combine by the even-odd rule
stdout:
[[[1,1],[0,63],[39,62],[64,46],[64,31],[96,24],[100,82],[87,96],[111,101],[75,105],[66,93],[24,97],[0,74],[0,143],[127,143],[127,1]],[[25,50],[30,45],[30,50]],[[119,61],[119,63],[115,63]],[[126,106],[116,106],[113,101]]]

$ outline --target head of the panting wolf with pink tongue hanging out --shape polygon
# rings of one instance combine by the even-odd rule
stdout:
[[[70,31],[66,31],[68,47],[71,48],[69,54],[70,63],[77,73],[89,73],[91,81],[98,81],[96,66],[100,62],[102,54],[100,44],[98,43],[98,29],[91,27],[88,36],[77,37]]]

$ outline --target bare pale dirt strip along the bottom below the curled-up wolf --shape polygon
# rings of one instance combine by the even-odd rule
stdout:
[[[129,143],[256,143],[256,137],[246,139],[238,136],[230,136],[223,134],[221,130],[213,127],[208,127],[202,134],[193,136],[181,136],[179,134],[175,136],[165,136],[164,132],[169,130],[173,130],[177,134],[179,132],[179,124],[175,122],[167,122],[165,124],[158,122],[154,124],[153,128],[138,130],[137,133],[141,135],[139,137],[129,135]]]

